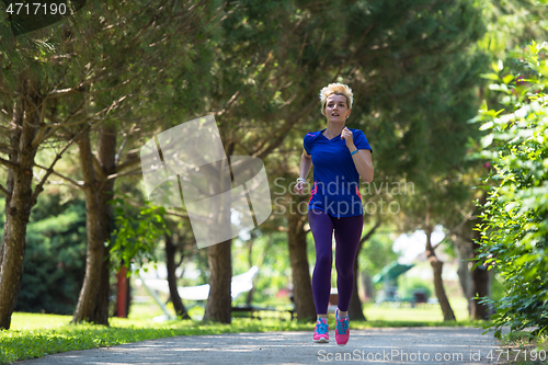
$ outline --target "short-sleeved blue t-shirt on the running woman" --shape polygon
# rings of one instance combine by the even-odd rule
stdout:
[[[357,149],[373,151],[364,133],[352,129]],[[359,195],[359,173],[341,135],[328,139],[318,130],[305,136],[304,146],[312,157],[313,186],[308,209],[320,209],[332,217],[354,217],[364,214]]]

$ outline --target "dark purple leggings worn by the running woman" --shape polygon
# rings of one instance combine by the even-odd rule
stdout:
[[[332,237],[335,232],[335,269],[338,307],[349,310],[354,288],[354,260],[362,237],[364,216],[331,217],[323,210],[308,210],[308,223],[316,246],[316,266],[312,274],[312,295],[317,315],[327,315],[331,292],[331,267],[333,265]]]

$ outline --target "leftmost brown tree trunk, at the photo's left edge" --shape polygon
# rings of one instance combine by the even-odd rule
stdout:
[[[23,93],[35,105],[41,104],[37,91],[28,82],[28,90]],[[13,123],[18,126],[12,129],[11,146],[14,153],[10,153],[10,162],[16,167],[8,172],[5,197],[5,223],[2,237],[2,258],[0,265],[0,330],[9,330],[11,315],[18,300],[23,275],[23,258],[25,254],[26,225],[31,208],[34,206],[32,180],[34,159],[37,148],[33,140],[39,125],[39,116],[34,106],[23,98],[16,102],[13,111]]]

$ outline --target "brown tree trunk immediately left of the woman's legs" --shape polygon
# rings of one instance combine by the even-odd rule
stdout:
[[[289,205],[290,206],[290,205]],[[316,321],[316,306],[312,296],[312,283],[307,256],[307,240],[305,231],[306,216],[287,209],[287,244],[289,247],[289,263],[293,274],[293,298],[297,320]]]

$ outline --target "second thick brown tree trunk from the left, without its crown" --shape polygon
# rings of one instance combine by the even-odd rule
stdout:
[[[85,229],[88,231],[88,252],[85,259],[85,276],[78,298],[72,322],[94,322],[95,308],[103,284],[104,235],[101,227],[103,220],[100,213],[99,181],[93,168],[89,129],[78,139],[80,164],[84,181]]]

